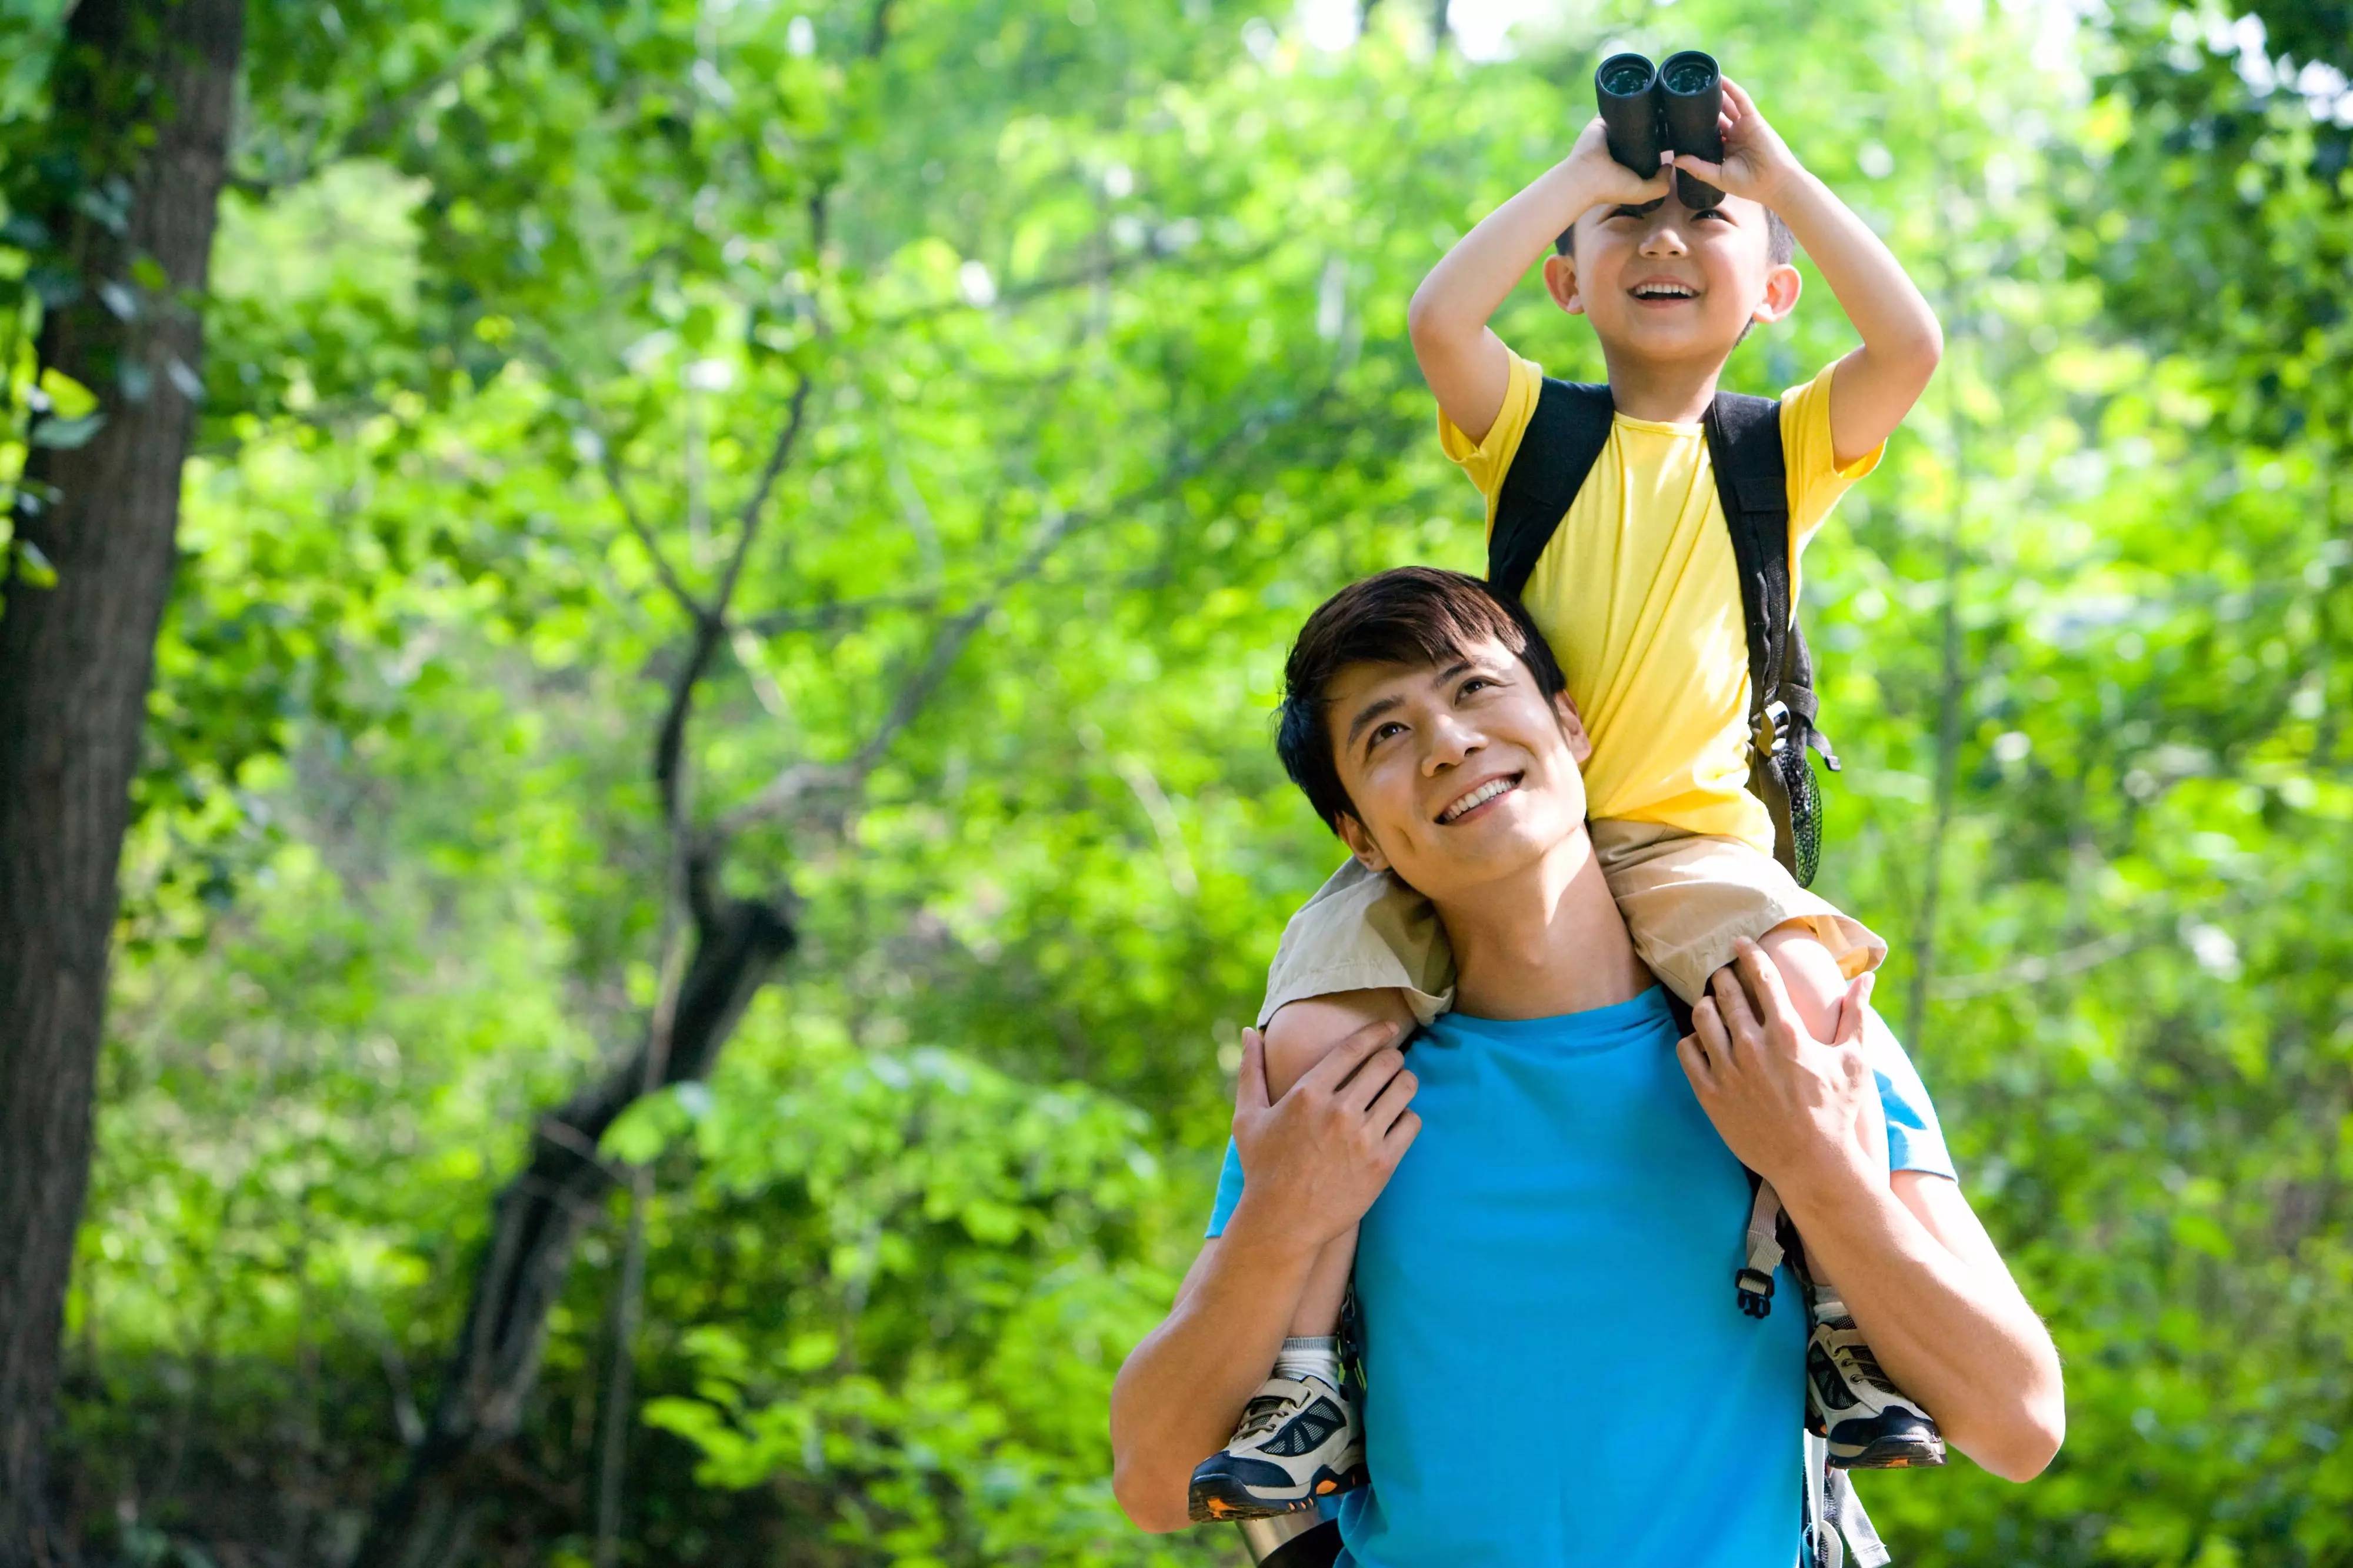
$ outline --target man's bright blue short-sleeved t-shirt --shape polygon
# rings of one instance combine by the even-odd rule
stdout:
[[[1795,1563],[1805,1309],[1786,1271],[1769,1316],[1734,1304],[1748,1177],[1675,1038],[1659,989],[1414,1038],[1421,1137],[1358,1231],[1344,1563]],[[1889,1165],[1953,1175],[1901,1045],[1873,1067]],[[1212,1236],[1240,1196],[1228,1144]]]

